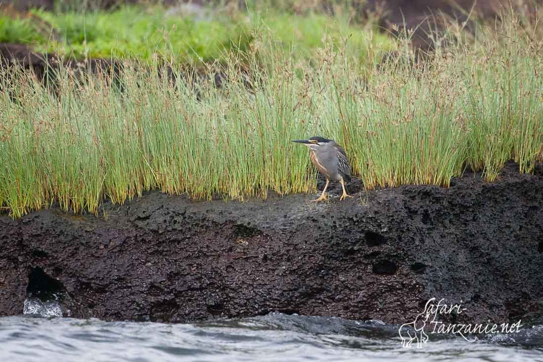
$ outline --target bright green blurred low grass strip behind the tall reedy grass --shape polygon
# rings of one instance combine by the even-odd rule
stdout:
[[[0,17],[5,42],[33,43],[36,51],[54,52],[64,58],[121,58],[152,63],[155,58],[201,65],[224,61],[233,49],[246,51],[254,33],[267,34],[296,59],[308,59],[325,42],[343,47],[349,39],[353,57],[365,64],[368,52],[393,47],[387,36],[349,25],[343,16],[310,13],[297,16],[276,10],[226,13],[222,8],[200,10],[198,15],[160,6],[123,6],[112,11],[33,10],[52,29],[43,36],[30,20]],[[49,34],[48,34],[49,35]]]

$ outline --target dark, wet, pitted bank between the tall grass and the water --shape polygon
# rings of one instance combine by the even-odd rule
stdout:
[[[430,297],[463,322],[523,322],[543,303],[543,171],[506,166],[450,189],[403,186],[191,202],[160,192],[108,220],[53,207],[0,216],[0,315],[57,292],[75,317],[183,322],[269,311],[406,322]],[[321,185],[322,187],[322,185]],[[332,190],[339,196],[340,189]],[[47,297],[47,293],[42,294]]]

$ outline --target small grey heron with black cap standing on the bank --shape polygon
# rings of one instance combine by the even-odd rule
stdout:
[[[323,201],[328,198],[326,189],[330,180],[339,181],[343,188],[343,195],[339,200],[345,197],[352,197],[345,191],[345,182],[351,180],[351,165],[343,148],[333,140],[327,140],[322,137],[312,137],[308,140],[295,140],[293,142],[303,143],[311,149],[311,161],[320,173],[326,177],[326,186],[323,193],[315,201]]]

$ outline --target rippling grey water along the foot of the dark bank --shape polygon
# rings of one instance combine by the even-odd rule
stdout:
[[[477,342],[430,335],[402,348],[398,326],[271,313],[193,324],[0,318],[0,361],[543,361],[543,326]]]

